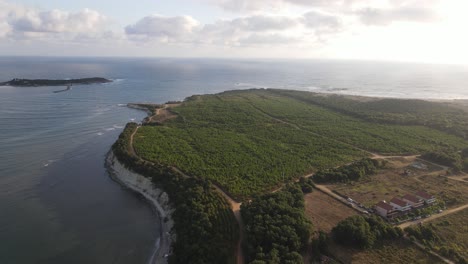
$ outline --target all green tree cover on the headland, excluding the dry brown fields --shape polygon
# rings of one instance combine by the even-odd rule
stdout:
[[[176,118],[139,127],[134,150],[129,141],[138,125],[128,124],[113,151],[169,194],[177,234],[169,263],[235,263],[239,227],[213,185],[244,201],[248,263],[302,263],[312,229],[304,193],[314,182],[372,175],[385,165],[370,159],[374,154],[422,154],[468,167],[468,142],[456,124],[464,122],[462,110],[418,100],[372,101],[264,89],[195,95],[170,108]],[[380,218],[361,216],[331,233],[337,243],[360,249],[401,237]],[[326,251],[327,239],[319,236],[312,248]]]

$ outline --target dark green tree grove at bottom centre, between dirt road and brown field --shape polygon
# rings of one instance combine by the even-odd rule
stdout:
[[[304,214],[304,195],[297,185],[255,197],[242,204],[247,234],[247,261],[255,264],[303,263],[312,224]]]

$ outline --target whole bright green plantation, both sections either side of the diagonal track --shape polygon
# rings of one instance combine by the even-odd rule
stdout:
[[[369,155],[362,150],[419,154],[468,146],[435,129],[378,124],[291,97],[308,93],[279,92],[192,96],[172,109],[177,118],[140,128],[136,151],[244,198]]]

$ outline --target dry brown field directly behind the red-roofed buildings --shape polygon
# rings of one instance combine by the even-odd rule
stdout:
[[[421,190],[444,200],[447,207],[468,203],[468,183],[441,176],[445,171],[430,164],[427,169],[415,168],[412,166],[414,161],[414,157],[392,160],[389,163],[390,168],[377,175],[352,184],[334,184],[327,187],[366,206]],[[405,171],[410,171],[409,175],[405,174]]]

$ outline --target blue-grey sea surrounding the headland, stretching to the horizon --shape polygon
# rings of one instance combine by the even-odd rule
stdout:
[[[0,263],[146,263],[158,218],[109,179],[104,156],[143,112],[192,94],[274,87],[468,98],[468,69],[351,61],[0,58],[0,81],[102,76],[111,84],[0,87]]]

